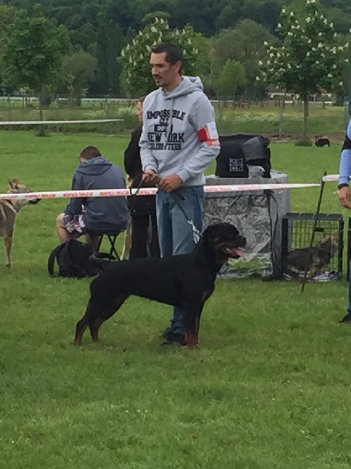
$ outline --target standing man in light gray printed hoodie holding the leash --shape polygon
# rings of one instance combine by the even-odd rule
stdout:
[[[204,171],[218,153],[215,112],[199,77],[182,76],[182,51],[173,43],[152,49],[152,76],[159,87],[143,106],[143,178],[158,184],[157,227],[162,257],[194,250],[192,227],[203,224]],[[176,190],[176,195],[173,192]],[[182,207],[182,210],[180,207]],[[183,310],[175,307],[164,344],[185,344]]]

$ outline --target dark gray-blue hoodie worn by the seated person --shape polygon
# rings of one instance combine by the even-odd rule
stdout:
[[[80,163],[73,176],[72,190],[124,189],[126,183],[120,167],[103,156]],[[85,212],[83,221],[92,232],[119,232],[127,228],[129,209],[125,197],[87,197],[71,199],[65,214]]]

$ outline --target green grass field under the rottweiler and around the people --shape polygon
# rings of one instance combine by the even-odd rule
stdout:
[[[0,192],[6,177],[67,189],[84,146],[121,164],[127,141],[1,132]],[[291,182],[317,182],[338,172],[341,145],[271,151]],[[335,186],[322,211],[341,210]],[[293,210],[314,211],[317,195],[294,190]],[[1,258],[0,468],[350,468],[345,280],[308,284],[303,295],[292,282],[217,281],[195,351],[162,348],[171,308],[131,298],[99,344],[86,336],[73,347],[89,281],[46,270],[64,203],[25,207],[12,272]]]

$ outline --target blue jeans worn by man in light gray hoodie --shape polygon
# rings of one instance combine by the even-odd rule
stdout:
[[[156,195],[157,230],[161,257],[187,254],[194,251],[196,245],[192,227],[182,214],[178,204],[196,228],[200,232],[202,231],[203,199],[205,197],[203,187],[181,187],[177,192],[184,197],[184,200],[180,200],[179,197],[166,193],[164,190],[159,190]],[[171,329],[179,334],[185,333],[184,310],[180,307],[173,309]]]

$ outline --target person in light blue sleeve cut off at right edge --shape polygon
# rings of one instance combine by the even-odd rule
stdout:
[[[349,181],[351,176],[351,118],[348,125],[348,134],[345,137],[343,149],[341,151],[339,170],[339,199],[346,209],[351,209],[351,194]],[[349,304],[348,314],[341,319],[341,323],[351,323],[351,272],[349,278]]]

